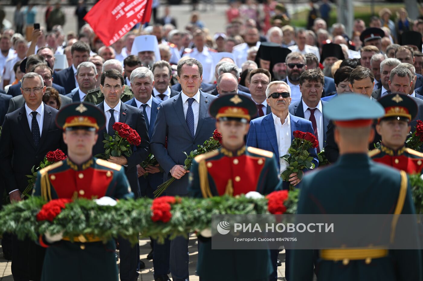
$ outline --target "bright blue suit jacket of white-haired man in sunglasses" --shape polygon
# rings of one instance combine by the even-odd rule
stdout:
[[[288,114],[291,119],[291,140],[294,139],[293,132],[297,130],[313,134],[313,127],[311,126],[310,121],[294,116],[291,113]],[[275,124],[272,114],[251,120],[250,130],[247,134],[247,146],[253,146],[273,152],[277,160],[277,167],[280,169],[280,157],[283,155],[279,155]],[[314,163],[315,168],[317,168],[319,166],[319,159],[317,157],[316,149],[309,149],[308,152],[310,153],[310,156],[313,157],[312,162]],[[306,172],[306,170],[303,171]],[[284,181],[283,186],[284,189],[288,188],[288,182]]]

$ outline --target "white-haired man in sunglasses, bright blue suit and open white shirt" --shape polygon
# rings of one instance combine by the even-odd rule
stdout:
[[[288,163],[280,157],[288,154],[288,149],[291,146],[294,138],[294,131],[313,132],[313,127],[310,121],[292,115],[288,111],[291,103],[291,88],[284,81],[273,81],[266,89],[267,104],[272,109],[272,113],[266,116],[253,119],[250,122],[250,130],[247,134],[247,146],[253,146],[259,149],[272,151],[277,159],[279,172],[283,172]],[[319,165],[317,159],[316,149],[309,149],[310,156],[313,157],[313,163]],[[304,171],[305,172],[305,171]],[[289,184],[298,186],[301,179],[298,178],[297,173],[291,173],[289,182],[283,182],[283,189],[288,189]],[[269,280],[277,280],[277,250],[271,251],[271,259],[273,265],[273,273]],[[285,276],[288,279],[288,251],[286,252],[286,267]]]

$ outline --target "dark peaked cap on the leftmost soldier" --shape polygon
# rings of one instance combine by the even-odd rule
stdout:
[[[61,108],[56,116],[56,125],[62,130],[98,131],[105,124],[104,113],[91,103],[71,103]]]

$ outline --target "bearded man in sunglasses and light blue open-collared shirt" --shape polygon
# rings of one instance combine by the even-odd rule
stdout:
[[[286,72],[288,76],[285,81],[291,88],[292,102],[301,100],[299,89],[299,76],[307,69],[305,56],[299,52],[293,52],[286,56]]]

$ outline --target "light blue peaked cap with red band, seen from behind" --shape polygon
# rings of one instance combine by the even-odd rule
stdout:
[[[370,126],[385,114],[382,105],[360,94],[341,94],[325,105],[324,114],[341,127]]]

